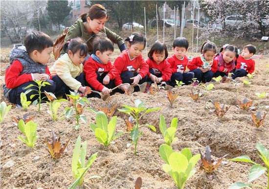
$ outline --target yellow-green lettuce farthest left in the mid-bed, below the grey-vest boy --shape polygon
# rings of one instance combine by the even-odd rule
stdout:
[[[37,130],[37,123],[33,121],[29,121],[24,124],[23,120],[19,120],[18,127],[22,134],[26,137],[25,139],[22,136],[18,136],[22,142],[24,142],[29,148],[33,148],[35,146],[35,142],[37,139],[36,130]]]

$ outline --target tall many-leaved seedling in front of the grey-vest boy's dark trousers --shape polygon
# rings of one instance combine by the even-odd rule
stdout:
[[[37,92],[37,94],[32,94],[30,96],[30,99],[32,99],[35,96],[38,96],[38,99],[36,99],[36,100],[33,101],[33,105],[38,104],[38,111],[40,112],[41,102],[45,102],[43,100],[45,98],[45,96],[44,97],[41,97],[41,95],[44,93],[44,92],[41,92],[41,88],[42,87],[45,87],[46,85],[51,85],[51,84],[48,83],[48,82],[46,82],[46,81],[43,81],[43,80],[40,80],[40,81],[34,80],[34,82],[36,82],[37,86],[36,85],[33,85],[33,84],[30,84],[27,87],[25,87],[24,89],[28,89],[28,88],[33,87],[33,86],[37,87],[37,89],[28,89],[24,94],[28,94],[31,91],[36,91]]]

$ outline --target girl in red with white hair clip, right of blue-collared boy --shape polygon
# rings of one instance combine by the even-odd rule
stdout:
[[[115,84],[130,83],[136,86],[147,81],[147,73],[149,72],[149,66],[141,55],[146,46],[146,39],[140,33],[133,33],[125,41],[127,42],[128,50],[122,51],[114,62],[119,74]],[[120,89],[125,91],[127,86],[123,85]],[[134,87],[134,91],[139,91],[138,86]]]

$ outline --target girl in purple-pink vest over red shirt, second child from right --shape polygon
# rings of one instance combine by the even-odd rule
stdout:
[[[218,69],[214,73],[214,77],[227,76],[229,72],[233,71],[235,69],[235,58],[238,58],[237,47],[224,45],[215,57],[218,62]]]

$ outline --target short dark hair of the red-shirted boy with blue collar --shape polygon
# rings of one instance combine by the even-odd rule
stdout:
[[[97,34],[97,37],[94,38],[92,42],[92,53],[95,54],[97,50],[99,50],[101,53],[111,50],[114,51],[114,44],[112,41],[107,38],[104,34]]]

